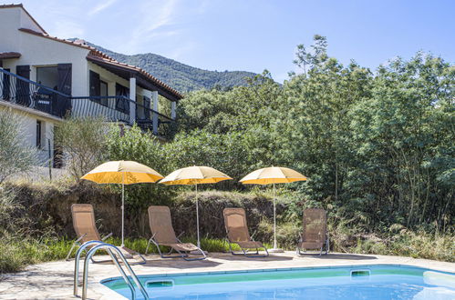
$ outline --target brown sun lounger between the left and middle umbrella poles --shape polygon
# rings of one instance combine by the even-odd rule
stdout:
[[[191,243],[182,243],[175,235],[172,227],[171,211],[168,206],[151,205],[149,207],[149,222],[151,237],[145,254],[149,251],[150,243],[153,243],[157,246],[161,258],[181,257],[184,260],[202,260],[206,258],[201,248]],[[171,251],[163,255],[160,250],[161,245],[171,247]],[[178,255],[171,255],[172,251],[176,251]],[[190,258],[190,255],[202,255],[202,257]]]

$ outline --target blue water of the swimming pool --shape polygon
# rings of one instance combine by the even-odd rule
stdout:
[[[152,299],[454,299],[455,274],[406,265],[140,276]],[[130,298],[120,277],[101,282]],[[137,291],[138,298],[141,297]]]

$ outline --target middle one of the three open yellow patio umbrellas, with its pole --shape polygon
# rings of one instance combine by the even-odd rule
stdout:
[[[199,238],[199,204],[198,204],[198,185],[216,184],[223,180],[233,179],[224,173],[213,169],[210,166],[193,165],[172,172],[161,179],[163,185],[194,185],[196,187],[196,227],[198,234],[198,247],[201,247]]]

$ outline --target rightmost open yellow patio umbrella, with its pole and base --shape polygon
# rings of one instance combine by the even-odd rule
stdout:
[[[297,171],[282,167],[282,166],[271,166],[265,167],[256,171],[253,171],[249,175],[244,176],[240,182],[243,185],[270,185],[270,184],[287,184],[295,181],[306,180],[305,175],[298,173]],[[276,206],[274,201],[274,248],[269,250],[270,252],[283,252],[276,245]]]

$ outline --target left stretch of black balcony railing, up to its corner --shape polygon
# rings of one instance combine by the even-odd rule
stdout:
[[[71,110],[70,96],[0,68],[0,100],[57,117]]]

